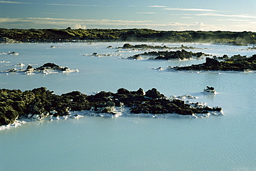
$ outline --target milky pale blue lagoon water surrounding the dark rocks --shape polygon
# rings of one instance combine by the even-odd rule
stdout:
[[[117,52],[115,48],[123,44],[1,44],[0,52],[15,51],[19,55],[0,54],[0,71],[19,69],[17,63],[38,67],[51,62],[79,72],[0,73],[0,88],[24,91],[43,86],[55,94],[73,90],[93,94],[101,90],[116,92],[118,88],[145,91],[156,88],[167,97],[183,94],[199,97],[192,101],[221,106],[225,115],[196,119],[85,115],[80,119],[27,122],[0,130],[0,170],[256,170],[255,72],[154,70],[203,63],[205,59],[121,59],[144,52]],[[246,50],[252,46],[183,45],[203,48],[192,51],[216,56],[256,54],[255,50]],[[165,43],[165,46],[181,44]],[[84,55],[93,52],[110,55]],[[213,86],[218,94],[201,93],[206,86]]]

